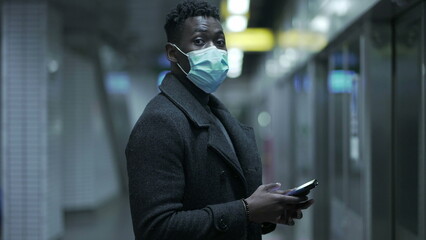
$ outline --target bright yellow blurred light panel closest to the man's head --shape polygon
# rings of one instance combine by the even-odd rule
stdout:
[[[226,46],[246,52],[265,52],[274,47],[274,34],[266,28],[247,28],[243,32],[225,33]]]

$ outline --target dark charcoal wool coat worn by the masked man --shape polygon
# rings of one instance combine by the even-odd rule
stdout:
[[[172,74],[160,90],[126,148],[136,239],[261,239],[260,224],[247,221],[241,201],[261,185],[253,130],[210,96],[210,109],[225,126],[234,152],[206,109]]]

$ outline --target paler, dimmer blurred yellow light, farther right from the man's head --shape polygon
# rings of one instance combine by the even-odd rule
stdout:
[[[282,48],[302,48],[317,52],[327,45],[324,34],[292,29],[278,36],[278,44]]]

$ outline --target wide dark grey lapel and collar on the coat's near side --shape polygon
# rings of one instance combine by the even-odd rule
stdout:
[[[217,126],[206,109],[204,109],[198,100],[172,74],[166,75],[160,86],[160,90],[167,98],[170,99],[170,101],[181,109],[181,111],[195,124],[195,126],[199,128],[207,128],[207,131],[209,132],[207,145],[216,151],[222,159],[238,173],[238,176],[241,178],[244,186],[246,187],[247,183],[236,153],[232,151],[232,148],[226,137],[223,135],[220,127]],[[215,102],[219,101],[213,95],[210,97],[213,98]],[[222,121],[221,117],[218,116],[218,118]],[[228,130],[225,123],[222,122],[222,124]],[[234,141],[235,138],[232,136],[232,133],[228,132],[228,134],[230,135],[231,140]],[[234,148],[235,151],[238,152],[235,145]]]

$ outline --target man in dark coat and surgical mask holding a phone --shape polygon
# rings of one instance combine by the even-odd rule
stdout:
[[[186,1],[167,16],[169,73],[126,148],[137,240],[261,239],[312,200],[261,185],[253,130],[213,95],[228,71],[218,10]]]

